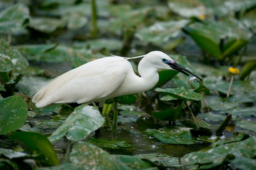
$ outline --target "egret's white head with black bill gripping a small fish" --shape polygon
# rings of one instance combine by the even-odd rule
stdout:
[[[172,69],[172,70],[179,71],[179,72],[183,73],[184,75],[187,75],[187,76],[192,75],[192,76],[195,76],[198,79],[200,79],[200,77],[198,77],[197,75],[195,75],[194,73],[192,73],[188,69],[186,69],[186,68],[180,66],[179,64],[177,64],[167,54],[163,53],[162,51],[152,51],[152,52],[146,54],[144,59],[145,60],[150,60],[150,63],[154,64],[155,67],[157,67],[159,70]],[[202,79],[200,79],[200,80],[202,81]],[[197,80],[197,82],[199,82],[199,81]]]

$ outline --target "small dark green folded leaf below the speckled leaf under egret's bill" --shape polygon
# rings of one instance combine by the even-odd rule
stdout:
[[[151,112],[151,114],[157,119],[175,121],[177,116],[180,114],[182,107],[183,105],[175,108],[169,108],[160,112]]]

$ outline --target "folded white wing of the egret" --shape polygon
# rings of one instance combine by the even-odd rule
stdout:
[[[52,103],[91,103],[108,98],[124,81],[130,63],[121,57],[94,60],[35,90],[37,107]]]

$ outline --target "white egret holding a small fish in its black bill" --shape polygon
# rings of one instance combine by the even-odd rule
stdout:
[[[140,77],[134,73],[132,65],[128,62],[128,59],[139,57],[143,57],[138,64]],[[103,107],[106,99],[150,90],[159,80],[157,72],[168,69],[200,79],[161,51],[152,51],[132,58],[113,55],[83,64],[50,81],[32,84],[32,102],[36,103],[38,108],[53,103],[75,102],[99,102],[99,107]]]

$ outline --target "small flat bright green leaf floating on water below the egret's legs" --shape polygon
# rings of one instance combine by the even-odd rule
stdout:
[[[87,139],[90,144],[94,144],[101,148],[119,149],[119,148],[132,148],[133,146],[126,141],[110,140],[110,139]]]

